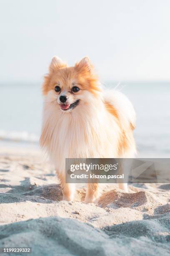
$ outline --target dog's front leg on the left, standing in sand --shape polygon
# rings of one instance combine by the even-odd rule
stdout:
[[[65,183],[65,174],[57,172],[57,176],[60,179],[60,186],[62,188],[62,200],[73,201],[75,193],[75,184]]]

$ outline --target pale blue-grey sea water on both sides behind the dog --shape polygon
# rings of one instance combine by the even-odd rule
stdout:
[[[105,87],[115,88],[116,82]],[[170,157],[170,82],[121,82],[133,102],[138,157]],[[40,83],[0,84],[0,147],[38,145],[42,122]],[[15,143],[15,144],[14,144]]]

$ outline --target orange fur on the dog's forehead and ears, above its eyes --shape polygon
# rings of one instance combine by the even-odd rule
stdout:
[[[89,90],[93,94],[101,91],[98,77],[87,57],[77,62],[74,67],[67,67],[65,62],[54,56],[49,67],[49,73],[44,77],[43,95],[47,95],[48,91],[54,89],[58,82],[62,82],[67,88],[71,87],[72,82],[74,82],[79,84],[81,90]]]

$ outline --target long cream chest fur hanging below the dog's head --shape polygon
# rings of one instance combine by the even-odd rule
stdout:
[[[118,133],[114,118],[102,106],[76,113],[44,108],[41,145],[59,171],[65,158],[117,157]]]

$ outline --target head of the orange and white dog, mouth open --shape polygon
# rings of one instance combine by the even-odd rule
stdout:
[[[65,112],[87,104],[90,95],[97,96],[100,90],[98,78],[87,57],[74,67],[67,67],[65,62],[54,56],[42,86],[45,101]]]

